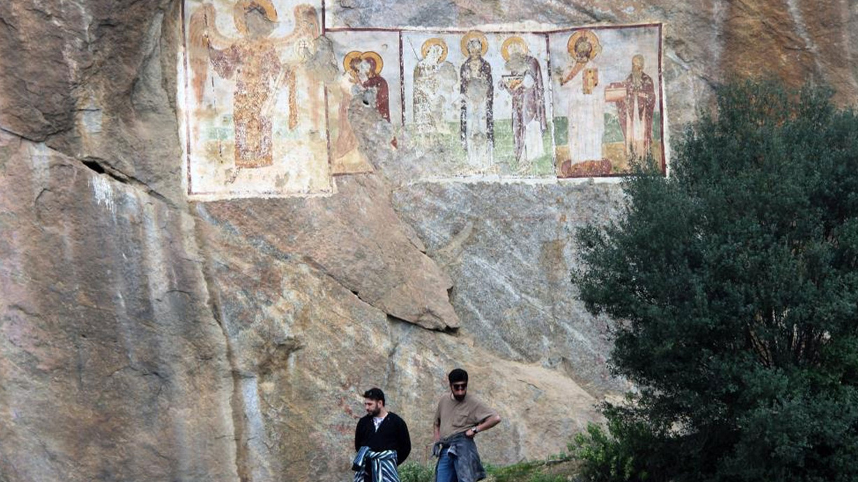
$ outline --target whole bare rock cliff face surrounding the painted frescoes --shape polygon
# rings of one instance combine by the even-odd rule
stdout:
[[[409,460],[431,463],[454,366],[504,419],[481,455],[510,463],[563,451],[596,402],[628,388],[607,372],[606,320],[569,276],[574,230],[616,214],[619,184],[410,183],[444,152],[401,136],[329,197],[189,202],[180,8],[0,3],[0,480],[340,480],[371,386],[408,421]],[[734,74],[858,100],[849,0],[360,0],[327,15],[663,22],[674,135]],[[362,146],[390,138],[372,122]]]

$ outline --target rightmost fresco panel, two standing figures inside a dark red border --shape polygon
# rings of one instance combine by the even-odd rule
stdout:
[[[550,33],[558,176],[627,174],[651,154],[664,170],[661,25]]]

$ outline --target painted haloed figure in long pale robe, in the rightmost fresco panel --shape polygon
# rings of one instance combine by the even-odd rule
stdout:
[[[601,161],[605,98],[604,88],[599,84],[599,68],[594,62],[601,45],[591,30],[580,30],[571,35],[566,50],[575,61],[560,79],[560,86],[567,86],[569,102],[570,161],[572,165]]]

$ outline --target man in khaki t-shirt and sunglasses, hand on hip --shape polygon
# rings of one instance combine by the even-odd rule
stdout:
[[[456,368],[447,376],[450,393],[435,410],[434,441],[438,455],[436,482],[475,482],[485,479],[474,437],[500,422],[500,415],[468,396],[468,372]]]

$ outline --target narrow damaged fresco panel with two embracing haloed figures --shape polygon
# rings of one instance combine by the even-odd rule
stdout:
[[[402,126],[399,32],[328,32],[336,79],[328,86],[329,156],[335,175],[371,172],[366,149],[396,149]],[[384,142],[361,145],[361,128],[378,130]]]

